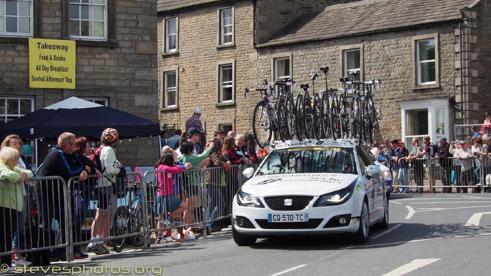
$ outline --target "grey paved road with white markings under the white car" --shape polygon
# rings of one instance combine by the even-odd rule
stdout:
[[[389,227],[371,229],[371,239],[362,245],[342,237],[283,237],[239,247],[226,230],[59,265],[74,272],[85,265],[87,274],[104,275],[126,271],[122,266],[147,275],[151,267],[157,275],[491,274],[490,194],[393,194],[389,208]],[[137,273],[145,269],[148,273]]]

